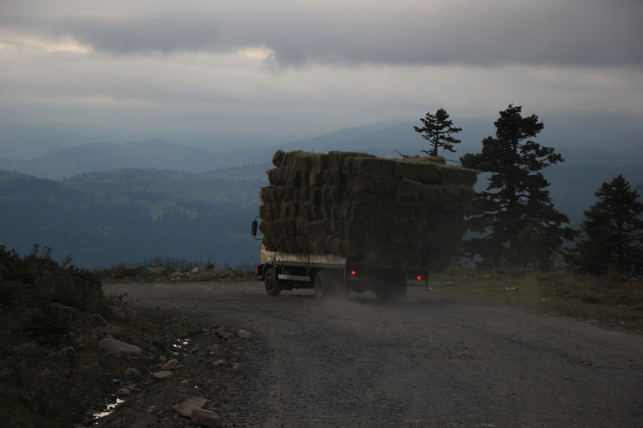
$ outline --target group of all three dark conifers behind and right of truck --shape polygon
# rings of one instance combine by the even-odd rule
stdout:
[[[453,126],[446,110],[427,113],[421,121],[424,126],[414,128],[430,142],[424,153],[437,156],[440,148],[455,153],[460,140],[453,135],[462,128]],[[643,203],[629,182],[619,175],[603,183],[595,192],[597,202],[583,212],[581,230],[574,230],[554,207],[541,173],[565,161],[554,148],[532,140],[545,125],[510,104],[494,126],[495,137],[482,140],[480,153],[460,157],[463,167],[491,173],[467,216],[469,232],[477,236],[464,241],[465,256],[482,258],[479,268],[531,264],[547,270],[559,260],[587,273],[612,268],[642,277]]]

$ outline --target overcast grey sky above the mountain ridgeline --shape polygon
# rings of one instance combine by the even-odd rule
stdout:
[[[642,22],[638,0],[3,0],[0,158],[152,138],[228,151],[509,103],[636,122]]]

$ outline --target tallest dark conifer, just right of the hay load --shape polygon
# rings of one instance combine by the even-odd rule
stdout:
[[[538,172],[564,159],[530,140],[544,125],[535,114],[522,117],[521,112],[510,104],[494,122],[496,137],[482,141],[482,153],[460,158],[464,167],[491,173],[467,219],[469,230],[484,237],[465,241],[464,249],[471,259],[482,256],[482,266],[533,263],[547,269],[563,239],[574,239],[577,232],[562,226],[569,219],[554,209],[545,190],[549,183]]]

